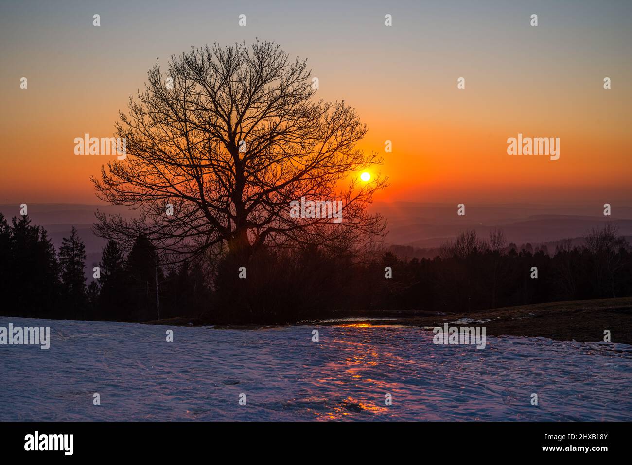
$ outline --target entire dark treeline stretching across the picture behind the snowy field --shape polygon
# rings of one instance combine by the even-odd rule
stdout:
[[[0,214],[1,313],[18,317],[292,323],[334,310],[453,313],[632,296],[632,253],[612,223],[586,234],[584,246],[561,246],[554,255],[506,245],[501,231],[485,240],[465,231],[433,259],[382,251],[360,260],[342,248],[303,246],[258,251],[242,265],[228,256],[167,266],[140,236],[129,251],[109,241],[100,275],[87,285],[85,247],[74,228],[56,251],[28,217],[9,224]]]

